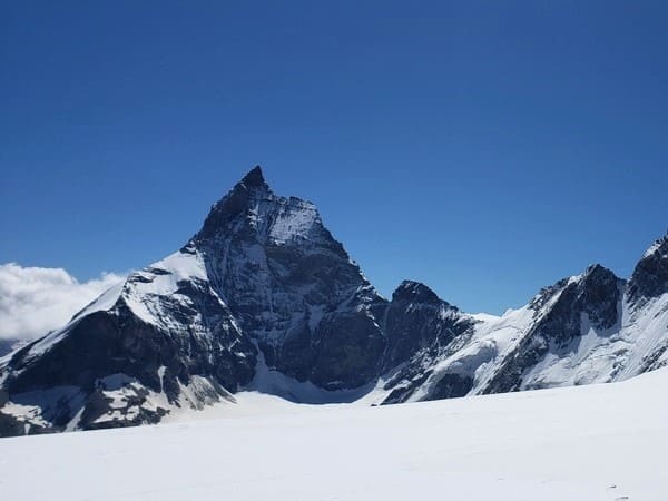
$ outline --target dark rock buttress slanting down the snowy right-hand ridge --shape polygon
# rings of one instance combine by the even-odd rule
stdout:
[[[582,316],[603,333],[620,316],[623,281],[600,265],[578,279],[561,281],[534,299],[534,323],[518,347],[501,363],[484,393],[519,391],[523,374],[552,352],[560,354],[582,335]]]

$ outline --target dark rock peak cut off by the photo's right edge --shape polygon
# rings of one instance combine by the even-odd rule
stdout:
[[[668,235],[657,240],[642,256],[631,279],[628,296],[633,304],[668,292]]]

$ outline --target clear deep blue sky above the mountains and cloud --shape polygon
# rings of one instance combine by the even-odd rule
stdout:
[[[501,312],[668,228],[668,3],[6,2],[0,263],[177,249],[255,164],[385,295]]]

